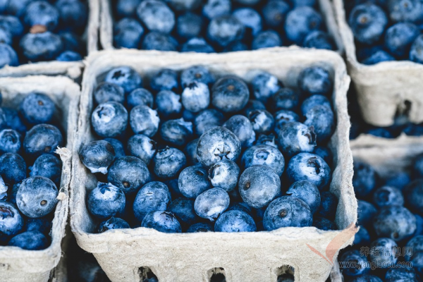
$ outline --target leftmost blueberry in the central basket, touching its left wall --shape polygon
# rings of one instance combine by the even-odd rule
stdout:
[[[115,159],[114,147],[107,141],[92,141],[81,147],[80,161],[92,173],[107,173],[107,168]]]

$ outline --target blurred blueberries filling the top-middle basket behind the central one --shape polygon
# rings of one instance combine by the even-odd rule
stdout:
[[[334,49],[317,0],[117,0],[114,46],[202,53]]]

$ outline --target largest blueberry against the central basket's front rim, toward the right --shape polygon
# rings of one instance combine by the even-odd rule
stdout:
[[[266,231],[281,227],[312,226],[313,216],[309,206],[298,197],[283,196],[269,204],[263,217]]]

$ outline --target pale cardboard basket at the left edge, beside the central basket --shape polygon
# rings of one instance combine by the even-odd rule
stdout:
[[[80,87],[70,78],[42,75],[25,78],[0,78],[1,106],[18,109],[20,102],[31,92],[47,94],[56,104],[54,119],[61,124],[66,147],[57,149],[62,162],[59,202],[54,211],[51,245],[45,250],[23,250],[19,247],[0,247],[0,281],[48,281],[50,272],[62,257],[61,243],[68,219],[68,188],[71,183],[71,148],[73,147]],[[52,272],[53,276],[54,273]]]

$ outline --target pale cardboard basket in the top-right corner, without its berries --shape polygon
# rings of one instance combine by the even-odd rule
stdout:
[[[371,125],[393,124],[405,112],[412,123],[423,121],[423,64],[386,61],[367,66],[357,61],[354,35],[348,25],[343,1],[333,0],[339,32],[364,121]]]

